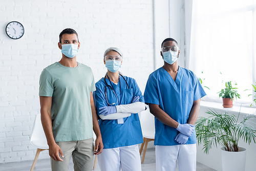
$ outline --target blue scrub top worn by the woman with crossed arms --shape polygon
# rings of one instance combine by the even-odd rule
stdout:
[[[130,89],[128,89],[123,77],[126,79]],[[109,86],[111,86],[112,83],[118,99],[116,98],[114,92],[109,87],[106,87],[104,78],[101,78],[98,82],[96,82],[96,91],[93,92],[93,97],[98,115],[99,108],[103,106],[110,106],[106,102],[105,87],[108,102],[112,104],[118,100],[118,103],[113,104],[112,106],[119,104],[130,104],[135,96],[140,97],[140,102],[145,102],[135,79],[126,76],[123,77],[120,76],[117,85],[112,81],[110,82],[109,79],[105,79]],[[99,118],[99,127],[104,148],[116,148],[121,146],[135,145],[143,142],[139,115],[132,114],[130,117],[123,118],[123,121],[123,124],[118,124],[117,119],[102,120]]]

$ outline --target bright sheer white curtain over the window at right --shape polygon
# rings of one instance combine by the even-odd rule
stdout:
[[[237,102],[252,102],[248,97],[252,91],[244,90],[252,90],[251,84],[255,84],[255,3],[193,0],[189,69],[205,78],[203,84],[210,89],[205,89],[207,100],[221,102],[217,92],[232,81],[241,95]]]

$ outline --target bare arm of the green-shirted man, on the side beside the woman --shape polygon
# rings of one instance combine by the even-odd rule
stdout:
[[[91,103],[91,109],[92,109],[92,116],[93,116],[93,131],[96,134],[96,140],[95,140],[95,155],[98,155],[102,152],[103,149],[103,143],[102,143],[102,138],[100,134],[100,129],[99,129],[99,122],[98,122],[98,116],[96,113],[96,108],[94,105],[94,100],[93,100],[93,92],[90,93],[90,103]]]

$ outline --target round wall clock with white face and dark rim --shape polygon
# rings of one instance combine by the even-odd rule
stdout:
[[[10,22],[6,26],[6,34],[12,39],[19,39],[24,35],[24,27],[18,22]]]

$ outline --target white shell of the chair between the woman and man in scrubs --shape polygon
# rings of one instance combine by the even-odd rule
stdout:
[[[155,116],[150,113],[150,109],[146,106],[145,111],[140,112],[140,124],[142,129],[142,134],[147,132],[153,137],[155,136]],[[144,136],[144,134],[143,134]]]

